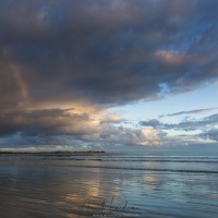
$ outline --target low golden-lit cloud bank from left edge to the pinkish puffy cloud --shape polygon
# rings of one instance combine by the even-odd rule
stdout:
[[[0,114],[0,145],[72,145],[72,141],[161,145],[160,131],[124,128],[121,122],[104,111],[90,116],[75,109],[13,110]]]

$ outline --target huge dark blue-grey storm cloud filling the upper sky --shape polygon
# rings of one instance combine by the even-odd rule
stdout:
[[[0,1],[0,46],[34,102],[157,99],[217,77],[217,7],[209,0]],[[2,51],[1,64],[5,57]],[[1,88],[9,84],[1,107],[23,101],[12,74],[1,71]]]

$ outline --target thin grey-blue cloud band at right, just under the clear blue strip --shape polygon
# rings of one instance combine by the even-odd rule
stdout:
[[[143,126],[153,126],[160,130],[183,130],[183,131],[195,131],[195,130],[208,130],[211,126],[218,124],[218,113],[205,117],[201,120],[185,120],[180,123],[164,123],[156,119],[148,121],[141,121]]]

